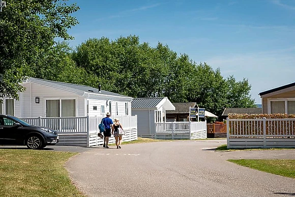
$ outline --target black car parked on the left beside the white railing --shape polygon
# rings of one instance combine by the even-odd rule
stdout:
[[[0,144],[26,145],[30,149],[42,149],[58,143],[55,130],[30,125],[14,116],[0,114]]]

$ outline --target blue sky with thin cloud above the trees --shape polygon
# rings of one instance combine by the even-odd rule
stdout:
[[[259,92],[295,81],[295,0],[69,2],[80,7],[71,46],[128,35],[152,47],[161,42],[224,77],[248,78],[257,103]]]

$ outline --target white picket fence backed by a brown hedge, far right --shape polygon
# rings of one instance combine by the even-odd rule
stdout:
[[[295,148],[295,119],[227,119],[227,148]]]

